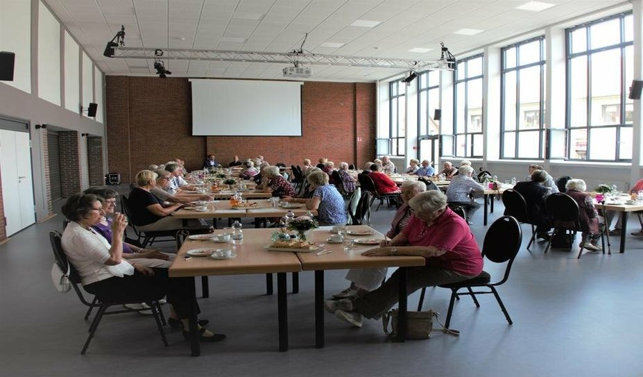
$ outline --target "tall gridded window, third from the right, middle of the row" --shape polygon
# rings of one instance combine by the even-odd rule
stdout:
[[[482,55],[472,56],[454,72],[454,157],[482,157],[482,65]]]

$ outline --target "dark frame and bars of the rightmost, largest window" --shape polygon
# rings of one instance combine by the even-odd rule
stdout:
[[[566,142],[566,151],[565,160],[568,161],[587,161],[587,162],[631,162],[631,158],[620,158],[621,155],[621,131],[623,128],[633,128],[633,124],[626,123],[626,88],[628,84],[626,83],[626,47],[633,46],[634,42],[625,40],[625,18],[632,15],[631,11],[617,13],[616,15],[610,15],[608,17],[603,17],[601,19],[596,19],[591,22],[586,22],[585,24],[580,24],[572,28],[565,29],[565,142]],[[619,39],[620,42],[617,44],[610,44],[608,46],[599,47],[597,49],[591,48],[591,26],[601,24],[603,22],[610,22],[613,19],[619,19]],[[585,38],[586,38],[586,48],[584,51],[572,53],[572,33],[578,31],[579,29],[585,28]],[[613,51],[618,49],[620,53],[620,99],[619,99],[619,122],[617,124],[603,124],[599,126],[592,126],[592,55],[594,53],[601,53],[603,51]],[[579,56],[586,56],[586,69],[587,69],[587,87],[586,87],[586,96],[587,104],[586,108],[586,120],[584,126],[572,126],[572,98],[571,98],[571,89],[572,89],[572,75],[571,75],[571,66],[572,59],[578,58]],[[597,130],[600,128],[615,128],[615,158],[612,160],[599,160],[590,158],[591,155],[591,131]],[[585,158],[572,158],[572,131],[573,130],[585,130],[587,134],[587,140],[585,142]]]

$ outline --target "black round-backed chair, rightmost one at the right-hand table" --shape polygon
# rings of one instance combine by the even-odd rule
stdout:
[[[549,237],[549,242],[547,242],[547,248],[545,248],[545,253],[549,251],[551,246],[551,240],[556,237],[556,235],[563,231],[571,231],[574,235],[578,232],[582,232],[581,223],[578,221],[580,217],[580,208],[578,208],[578,203],[572,196],[563,194],[562,192],[557,192],[547,196],[545,201],[545,206],[547,207],[547,212],[554,223],[554,233]],[[581,249],[578,250],[578,259],[581,258],[583,254],[583,249],[585,248],[585,242],[587,240],[585,237],[581,238]],[[603,254],[605,254],[605,240],[601,232],[601,246],[603,246]]]

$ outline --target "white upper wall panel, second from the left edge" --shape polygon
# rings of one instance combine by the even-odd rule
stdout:
[[[38,14],[38,96],[60,105],[60,24],[42,2]]]

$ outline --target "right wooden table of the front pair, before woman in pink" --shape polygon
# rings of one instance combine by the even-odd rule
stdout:
[[[370,229],[368,226],[348,226],[349,230]],[[350,268],[377,268],[377,267],[400,267],[400,293],[398,308],[400,310],[397,322],[397,337],[395,340],[404,342],[406,338],[406,267],[424,266],[425,258],[419,256],[385,256],[367,257],[361,255],[364,251],[375,246],[354,244],[352,251],[344,251],[342,244],[329,244],[326,239],[330,233],[329,227],[323,227],[312,231],[309,240],[325,243],[324,249],[332,250],[332,253],[316,255],[316,253],[297,253],[302,264],[303,271],[315,271],[315,346],[322,348],[325,344],[324,330],[324,271],[327,269],[350,269]],[[375,234],[357,238],[379,238],[384,240],[384,235],[375,231]]]

